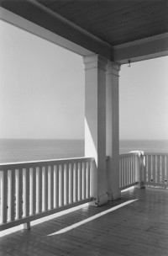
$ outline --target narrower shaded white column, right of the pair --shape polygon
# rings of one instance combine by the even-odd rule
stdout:
[[[108,173],[108,200],[117,200],[121,197],[119,189],[119,99],[118,80],[120,66],[108,61],[106,87],[106,154]]]

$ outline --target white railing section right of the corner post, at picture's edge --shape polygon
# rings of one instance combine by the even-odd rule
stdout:
[[[166,187],[168,180],[168,153],[144,153],[144,184]]]

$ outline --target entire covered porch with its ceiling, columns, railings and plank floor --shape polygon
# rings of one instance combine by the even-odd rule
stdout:
[[[119,159],[118,136],[120,65],[167,55],[167,4],[15,3],[1,1],[1,19],[83,57],[85,158],[1,164],[0,230],[20,224],[29,229],[35,219],[86,202],[102,207],[89,205],[2,237],[1,255],[167,255],[167,189],[120,191],[137,184],[166,187],[167,154]],[[93,9],[93,23],[81,19]]]

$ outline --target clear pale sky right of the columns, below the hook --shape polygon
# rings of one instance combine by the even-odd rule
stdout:
[[[122,139],[168,140],[168,56],[123,65],[119,111]]]

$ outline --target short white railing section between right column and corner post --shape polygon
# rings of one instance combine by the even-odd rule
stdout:
[[[119,187],[126,189],[139,182],[139,154],[119,155]]]

